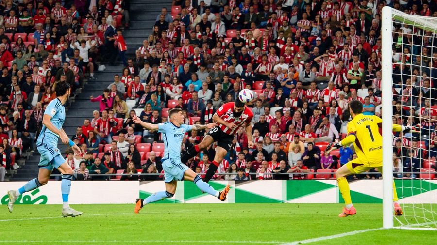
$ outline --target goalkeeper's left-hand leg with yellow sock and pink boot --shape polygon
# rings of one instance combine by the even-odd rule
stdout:
[[[367,168],[363,166],[363,163],[358,158],[356,158],[341,166],[341,168],[338,168],[338,170],[336,171],[338,188],[340,189],[341,196],[343,197],[346,206],[343,209],[343,212],[338,216],[346,217],[348,215],[356,214],[356,210],[352,204],[351,190],[349,188],[349,183],[346,180],[346,177],[352,174],[362,173],[366,169]]]

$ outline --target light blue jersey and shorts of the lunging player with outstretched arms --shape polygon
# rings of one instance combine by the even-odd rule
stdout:
[[[173,180],[183,180],[184,173],[189,168],[181,163],[182,139],[192,126],[182,124],[176,126],[172,122],[158,124],[158,132],[163,133],[164,156],[162,157],[162,168],[164,169],[164,181],[169,183]]]

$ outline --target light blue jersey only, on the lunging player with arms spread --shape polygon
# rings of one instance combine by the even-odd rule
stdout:
[[[191,131],[191,126],[181,124],[176,126],[172,122],[158,124],[158,132],[163,133],[164,156],[162,161],[173,158],[177,162],[181,161],[181,144],[186,132]]]

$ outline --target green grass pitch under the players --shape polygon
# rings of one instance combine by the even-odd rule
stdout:
[[[80,217],[61,217],[61,205],[15,205],[0,211],[0,244],[283,244],[380,228],[380,204],[134,204],[72,205]],[[430,230],[374,230],[311,244],[436,244]]]

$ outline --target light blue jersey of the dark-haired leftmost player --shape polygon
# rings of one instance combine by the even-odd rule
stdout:
[[[51,116],[50,122],[57,129],[61,129],[65,121],[65,107],[62,105],[61,100],[56,98],[50,101],[49,105],[46,107],[44,114]],[[57,147],[59,135],[51,132],[44,124],[41,133],[36,141],[37,146],[41,146],[43,143],[48,146]]]

